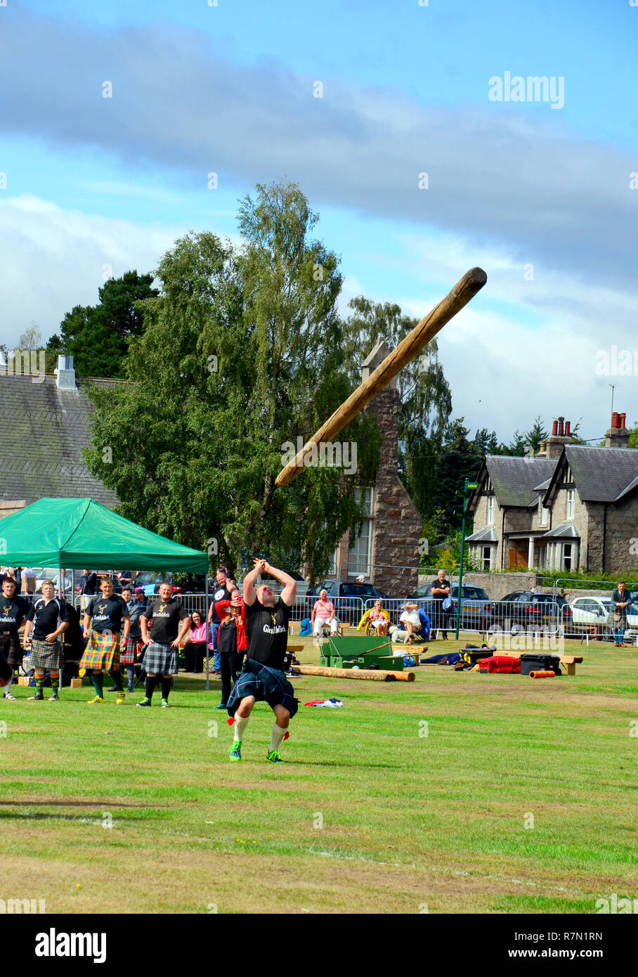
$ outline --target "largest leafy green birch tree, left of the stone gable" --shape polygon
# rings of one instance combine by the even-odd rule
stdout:
[[[275,488],[290,446],[352,389],[341,276],[316,222],[295,185],[258,186],[239,208],[242,250],[214,234],[178,240],[159,263],[160,294],[141,304],[130,384],[91,393],[87,463],[123,515],[232,566],[244,551],[324,573],[342,533],[361,526],[355,489],[376,474],[380,433],[360,416],[339,436],[356,444],[356,466],[350,455],[346,468],[311,467]]]

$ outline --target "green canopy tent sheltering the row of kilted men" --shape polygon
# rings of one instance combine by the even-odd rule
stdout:
[[[208,595],[206,553],[144,530],[92,498],[41,498],[1,520],[0,560],[12,567],[59,567],[61,586],[63,567],[114,570],[131,566],[135,570],[204,573]]]

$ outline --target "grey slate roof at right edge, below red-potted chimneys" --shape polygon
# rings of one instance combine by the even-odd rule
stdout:
[[[614,502],[638,484],[635,448],[566,445],[565,456],[583,502]],[[552,478],[548,495],[557,478],[557,475]]]

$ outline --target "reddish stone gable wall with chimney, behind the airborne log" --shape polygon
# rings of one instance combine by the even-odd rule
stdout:
[[[390,349],[377,343],[362,364],[362,380],[385,360]],[[365,408],[383,434],[376,483],[365,488],[368,516],[352,545],[345,532],[335,550],[330,576],[339,580],[363,575],[390,597],[411,593],[418,585],[418,547],[423,531],[419,515],[399,478],[399,394],[396,378]]]

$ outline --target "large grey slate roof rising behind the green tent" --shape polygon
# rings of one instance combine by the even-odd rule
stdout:
[[[90,497],[113,508],[115,492],[82,461],[93,405],[81,389],[59,390],[54,376],[34,380],[0,375],[0,498],[30,505],[43,496]]]

